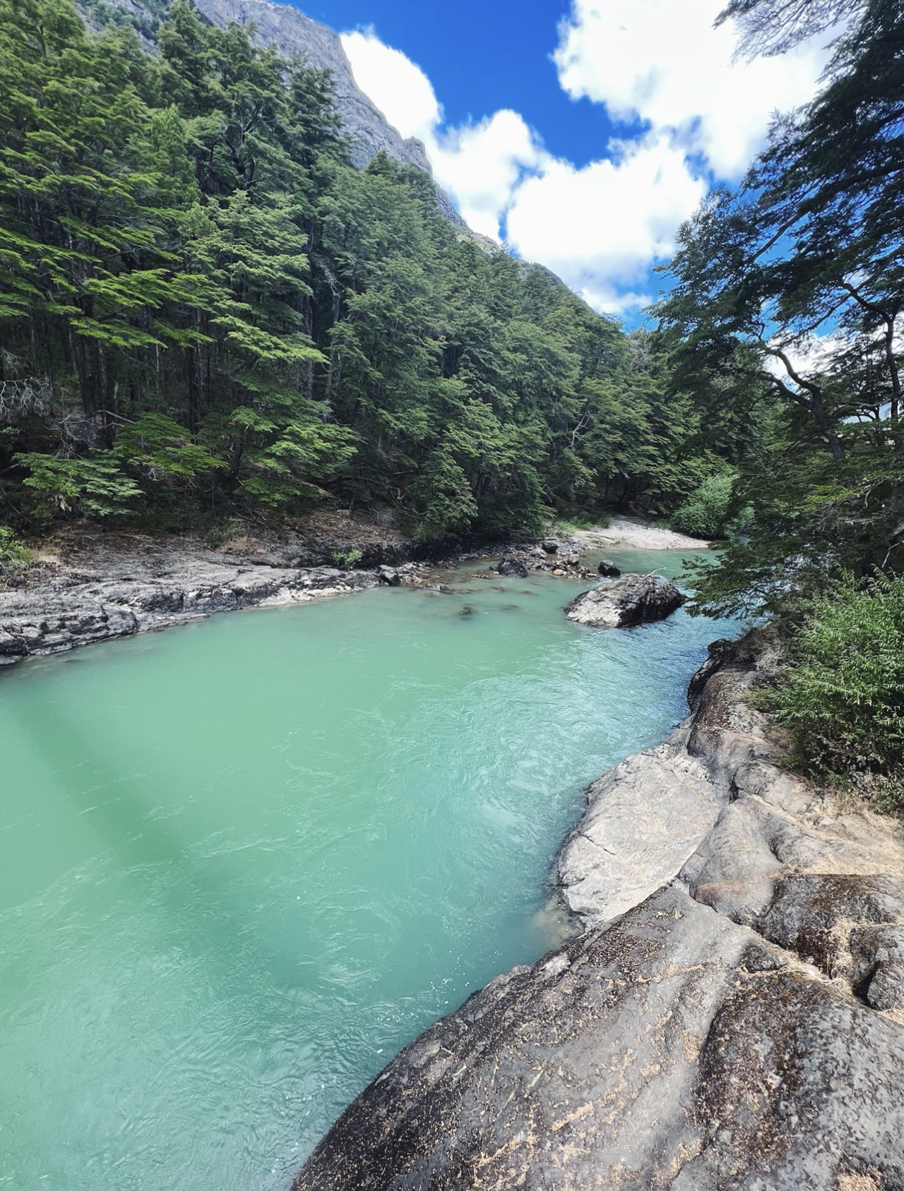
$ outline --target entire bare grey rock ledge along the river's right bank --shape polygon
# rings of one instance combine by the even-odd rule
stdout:
[[[904,1187],[904,838],[777,766],[768,651],[721,653],[587,792],[584,933],[406,1047],[294,1191]]]

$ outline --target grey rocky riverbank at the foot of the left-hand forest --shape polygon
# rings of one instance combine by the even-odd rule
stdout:
[[[649,532],[655,538],[660,531]],[[591,548],[568,536],[425,547],[342,513],[320,513],[279,534],[241,526],[216,547],[191,537],[82,529],[39,550],[20,582],[0,586],[0,667],[212,612],[301,603],[381,582],[436,585],[441,576],[432,568],[439,561],[501,554],[504,573],[507,565],[515,573],[588,578],[581,557]]]

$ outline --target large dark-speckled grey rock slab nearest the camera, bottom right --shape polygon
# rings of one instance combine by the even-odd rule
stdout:
[[[409,1046],[295,1191],[834,1191],[904,1171],[904,1029],[678,888]]]

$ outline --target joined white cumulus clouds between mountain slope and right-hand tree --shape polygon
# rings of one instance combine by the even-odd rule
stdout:
[[[734,180],[771,116],[815,91],[824,51],[732,62],[723,0],[573,0],[553,57],[573,99],[605,104],[626,130],[581,168],[548,152],[517,112],[447,127],[430,80],[373,30],[344,33],[355,80],[404,137],[424,142],[466,222],[538,261],[597,310],[644,305],[649,269],[712,176]],[[631,133],[631,135],[629,135]]]

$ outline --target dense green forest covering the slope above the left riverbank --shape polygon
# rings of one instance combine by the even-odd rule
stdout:
[[[317,500],[423,538],[667,513],[755,411],[669,391],[429,177],[348,160],[330,79],[182,0],[158,52],[69,0],[0,4],[0,515],[176,529]]]

